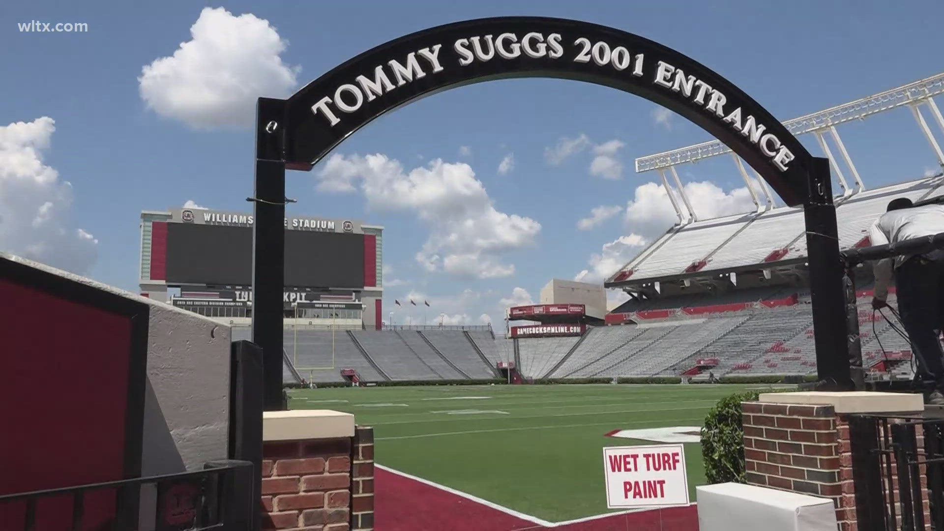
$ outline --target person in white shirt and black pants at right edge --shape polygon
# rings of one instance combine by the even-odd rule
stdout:
[[[913,207],[900,197],[868,230],[873,246],[898,243],[944,232],[944,205]],[[873,265],[875,295],[872,308],[887,306],[888,282],[894,269],[899,313],[918,358],[919,373],[936,389],[929,403],[944,403],[944,350],[938,340],[944,326],[944,251],[884,258]]]

